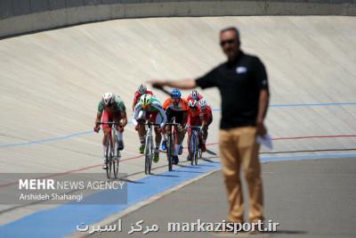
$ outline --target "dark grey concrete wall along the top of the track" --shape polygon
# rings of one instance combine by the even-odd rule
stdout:
[[[356,1],[1,0],[0,37],[120,18],[356,15]]]

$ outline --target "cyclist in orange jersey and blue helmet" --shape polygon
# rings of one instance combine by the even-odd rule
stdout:
[[[166,99],[163,103],[163,109],[166,110],[167,120],[170,121],[173,117],[175,122],[178,123],[177,140],[174,146],[173,163],[178,164],[178,154],[182,154],[182,141],[184,139],[184,131],[188,119],[188,103],[182,98],[182,93],[179,89],[171,90],[171,97]],[[166,133],[163,135],[162,150],[166,150]]]

